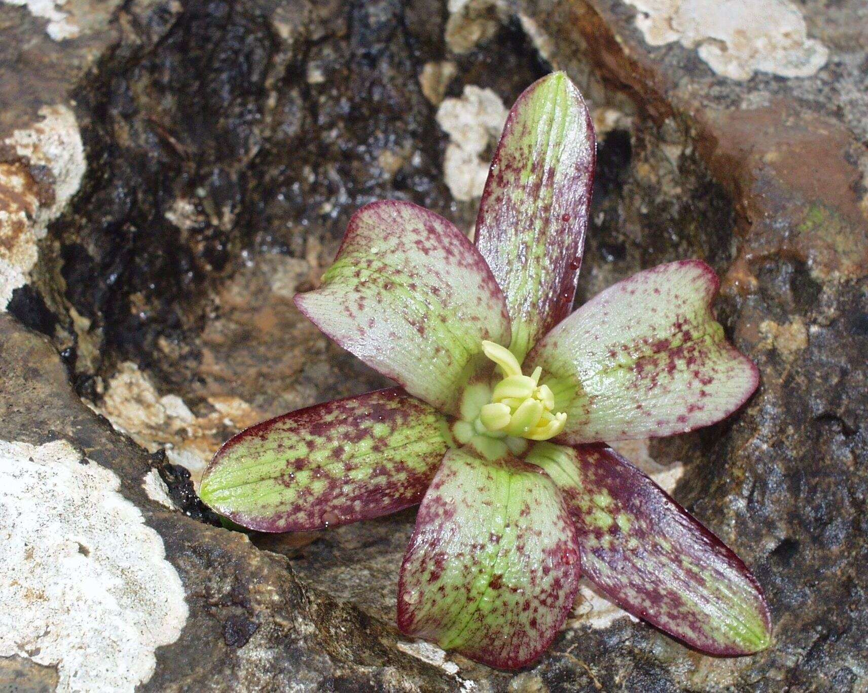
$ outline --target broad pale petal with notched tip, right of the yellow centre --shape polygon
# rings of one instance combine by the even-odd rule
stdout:
[[[718,279],[699,260],[641,271],[592,298],[528,356],[567,412],[558,441],[684,433],[733,413],[759,383],[727,342],[711,301]]]

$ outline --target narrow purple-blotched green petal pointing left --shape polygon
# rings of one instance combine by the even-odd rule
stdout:
[[[260,532],[369,520],[422,500],[449,447],[446,426],[398,388],[299,409],[227,441],[199,494]]]

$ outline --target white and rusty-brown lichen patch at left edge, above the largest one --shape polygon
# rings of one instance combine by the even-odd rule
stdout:
[[[0,164],[0,311],[26,284],[36,243],[82,184],[87,166],[76,116],[66,106],[42,108],[42,120],[0,142],[21,161]],[[45,167],[50,190],[40,193],[30,167]],[[48,194],[46,194],[48,193]]]

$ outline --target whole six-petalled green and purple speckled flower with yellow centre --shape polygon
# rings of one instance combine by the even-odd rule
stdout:
[[[727,342],[699,260],[641,271],[570,313],[595,136],[562,73],[510,111],[475,243],[408,202],[352,217],[299,309],[400,383],[248,428],[201,498],[262,532],[312,530],[421,501],[398,627],[505,669],[556,637],[579,579],[714,655],[770,641],[744,563],[606,441],[730,415],[757,369]]]

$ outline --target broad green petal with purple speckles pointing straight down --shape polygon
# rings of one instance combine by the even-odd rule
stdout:
[[[575,529],[545,474],[453,449],[404,554],[398,627],[490,666],[520,667],[555,638],[580,574]]]

